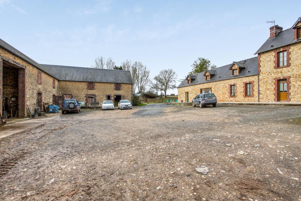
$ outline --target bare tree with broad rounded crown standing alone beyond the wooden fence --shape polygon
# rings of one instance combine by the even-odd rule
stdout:
[[[151,83],[151,88],[156,91],[164,91],[166,97],[166,91],[176,88],[177,75],[172,69],[165,69],[159,72],[159,75],[154,77],[154,81]]]

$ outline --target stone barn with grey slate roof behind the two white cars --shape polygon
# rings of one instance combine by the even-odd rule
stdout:
[[[102,102],[111,100],[132,101],[132,75],[130,71],[82,68],[61,65],[41,66],[59,79],[59,95],[76,98],[78,101]]]

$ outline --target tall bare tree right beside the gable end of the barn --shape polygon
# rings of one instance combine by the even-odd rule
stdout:
[[[132,65],[132,78],[134,82],[134,91],[137,88],[138,93],[142,93],[149,82],[150,71],[146,65],[141,62],[135,62]]]

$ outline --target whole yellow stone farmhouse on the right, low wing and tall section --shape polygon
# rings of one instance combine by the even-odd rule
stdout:
[[[257,57],[187,75],[178,100],[213,92],[225,102],[301,102],[301,17],[287,30],[275,25]]]

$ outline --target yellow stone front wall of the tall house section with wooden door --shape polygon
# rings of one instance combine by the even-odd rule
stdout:
[[[288,67],[275,68],[277,53],[286,49]],[[276,56],[275,56],[276,55]],[[273,49],[259,54],[259,84],[260,102],[275,102],[277,100],[277,80],[287,78],[288,102],[301,102],[301,43]]]

